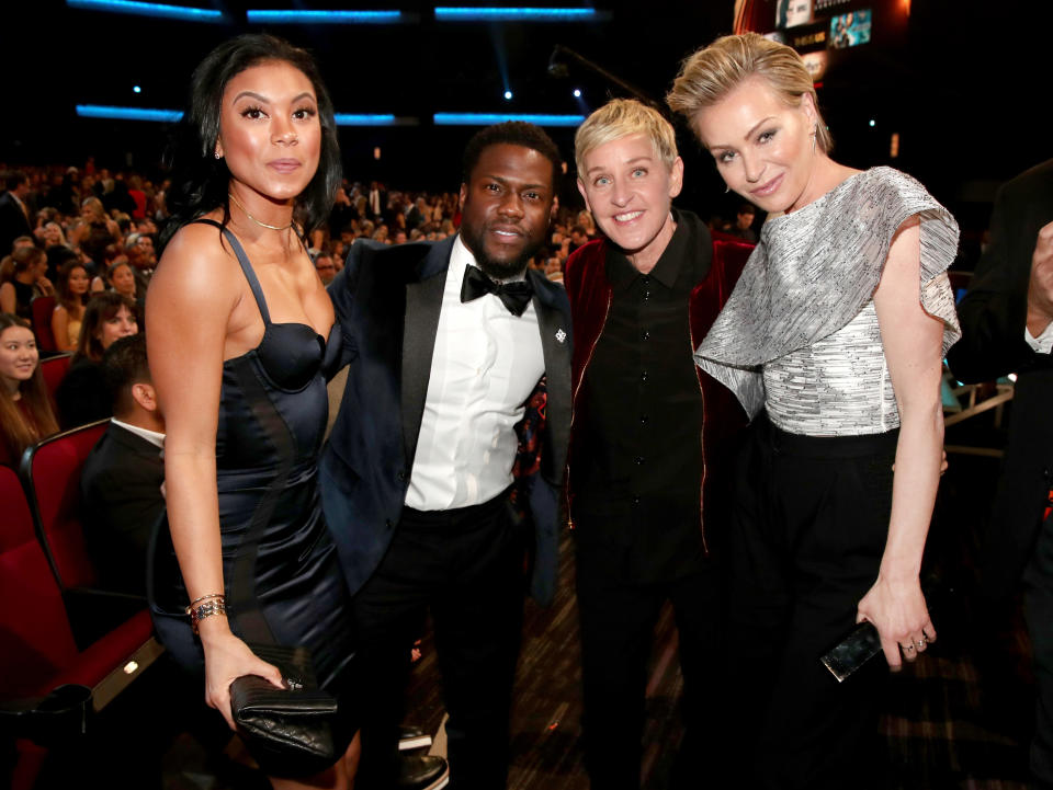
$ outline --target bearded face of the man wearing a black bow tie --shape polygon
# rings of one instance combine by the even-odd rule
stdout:
[[[552,199],[547,157],[508,142],[485,148],[461,185],[461,237],[479,268],[496,279],[521,274],[545,240]]]

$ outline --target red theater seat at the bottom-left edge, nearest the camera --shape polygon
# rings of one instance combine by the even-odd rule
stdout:
[[[24,708],[29,698],[78,684],[92,690],[91,708],[99,711],[162,652],[149,636],[148,615],[140,611],[80,650],[23,485],[8,467],[0,467],[0,709]],[[15,706],[14,700],[23,703]],[[25,734],[26,720],[0,713],[0,730],[8,736]],[[0,771],[0,786],[8,780],[12,790],[32,788],[46,754],[44,746],[19,737],[8,776]]]

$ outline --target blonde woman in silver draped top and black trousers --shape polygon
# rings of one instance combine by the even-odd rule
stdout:
[[[942,357],[960,335],[946,274],[958,226],[910,176],[830,159],[790,47],[717,39],[684,62],[668,102],[728,187],[769,215],[695,354],[751,417],[767,411],[733,525],[736,663],[757,694],[741,708],[760,728],[744,739],[759,758],[743,765],[759,775],[750,787],[880,786],[862,760],[886,673],[838,686],[819,656],[862,620],[893,669],[936,639],[919,571]]]

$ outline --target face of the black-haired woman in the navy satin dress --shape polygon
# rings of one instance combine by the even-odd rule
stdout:
[[[318,102],[303,71],[272,60],[227,83],[216,151],[235,181],[286,203],[310,183],[320,150]]]

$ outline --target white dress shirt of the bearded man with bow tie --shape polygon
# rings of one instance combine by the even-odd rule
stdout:
[[[544,374],[533,304],[513,316],[494,294],[461,302],[475,259],[453,242],[431,376],[406,504],[444,511],[482,504],[512,482],[513,426]]]

